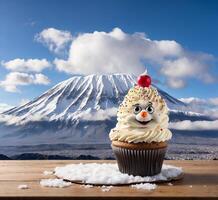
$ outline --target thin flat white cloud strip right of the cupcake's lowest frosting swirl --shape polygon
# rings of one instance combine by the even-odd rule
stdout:
[[[169,128],[176,130],[218,130],[218,120],[214,121],[190,121],[184,120],[171,122]]]

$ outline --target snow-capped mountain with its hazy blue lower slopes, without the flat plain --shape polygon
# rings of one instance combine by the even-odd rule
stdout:
[[[117,107],[136,80],[134,75],[113,74],[63,81],[0,115],[0,146],[108,143]],[[187,104],[157,89],[170,108],[170,121],[210,120],[187,111]]]

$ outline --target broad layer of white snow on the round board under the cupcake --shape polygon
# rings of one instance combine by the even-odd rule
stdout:
[[[163,165],[161,173],[155,176],[133,176],[121,173],[117,164],[109,163],[70,164],[64,167],[56,167],[54,171],[54,174],[61,179],[96,185],[167,181],[183,173],[180,167]]]

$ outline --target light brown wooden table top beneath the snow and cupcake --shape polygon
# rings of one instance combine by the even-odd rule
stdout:
[[[0,161],[0,198],[16,199],[218,199],[218,161],[166,161],[166,164],[183,167],[183,180],[158,184],[153,191],[137,190],[129,186],[113,187],[109,192],[101,188],[84,188],[73,184],[67,188],[46,188],[39,182],[45,170],[56,166],[80,162],[115,161]],[[29,189],[18,189],[27,184]]]

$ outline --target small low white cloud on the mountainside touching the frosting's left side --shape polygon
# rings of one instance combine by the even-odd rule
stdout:
[[[87,120],[87,121],[104,121],[107,119],[110,119],[111,117],[116,116],[117,108],[109,108],[106,110],[97,110],[94,112],[91,112],[89,110],[82,112],[78,115],[80,119]]]

